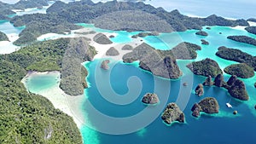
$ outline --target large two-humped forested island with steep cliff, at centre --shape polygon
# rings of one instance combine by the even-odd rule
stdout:
[[[144,70],[163,78],[176,79],[182,75],[182,72],[177,66],[176,59],[195,59],[197,56],[195,50],[200,49],[200,46],[187,42],[179,43],[172,50],[154,49],[147,43],[142,43],[135,49],[132,49],[130,53],[125,54],[123,61],[131,63],[139,60],[139,65]],[[150,59],[145,59],[145,57],[150,57]]]

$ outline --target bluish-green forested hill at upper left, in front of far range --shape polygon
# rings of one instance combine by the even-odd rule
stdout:
[[[80,26],[61,19],[56,14],[25,14],[23,16],[15,16],[10,22],[14,23],[14,26],[26,26],[20,32],[20,37],[15,41],[15,45],[33,43],[37,40],[37,37],[49,32],[63,34],[80,28]]]

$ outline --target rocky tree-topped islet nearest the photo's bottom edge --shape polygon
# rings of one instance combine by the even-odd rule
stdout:
[[[184,123],[185,115],[184,113],[177,107],[176,103],[169,103],[166,106],[165,111],[161,115],[162,120],[166,124],[172,124],[173,122]]]

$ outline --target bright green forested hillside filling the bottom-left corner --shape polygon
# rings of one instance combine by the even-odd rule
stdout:
[[[0,143],[82,143],[73,118],[26,91],[26,70],[0,60]]]

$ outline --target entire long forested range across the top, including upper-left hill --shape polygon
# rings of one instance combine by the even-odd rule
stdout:
[[[37,5],[27,6],[25,3],[30,1],[22,3],[20,1],[20,3],[16,3],[16,6],[8,5],[7,8],[19,7],[22,9],[23,7],[29,8],[32,6],[36,6],[33,8],[38,8],[48,2],[47,0],[40,3],[32,1],[31,4],[37,3]],[[102,11],[101,9],[105,10]],[[132,13],[135,13],[133,15],[136,16],[131,17]],[[134,21],[137,22],[135,23]],[[142,2],[109,1],[106,3],[93,3],[90,0],[74,3],[57,1],[47,9],[47,14],[15,16],[10,22],[15,26],[26,26],[20,32],[20,38],[15,41],[16,45],[34,43],[37,37],[45,33],[62,34],[81,28],[81,26],[74,25],[75,23],[93,23],[96,27],[108,30],[149,32],[142,33],[142,37],[145,37],[144,34],[155,35],[159,32],[184,32],[189,29],[201,30],[202,26],[249,26],[246,20],[226,20],[215,14],[207,18],[192,18],[180,14],[177,10],[167,12],[164,9],[156,9]],[[155,34],[152,32],[155,32]]]

